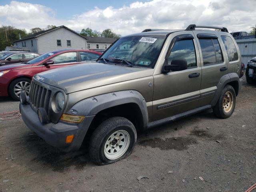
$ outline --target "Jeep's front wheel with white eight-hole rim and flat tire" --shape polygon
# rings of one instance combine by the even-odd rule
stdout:
[[[92,134],[90,158],[98,165],[114,163],[131,154],[136,140],[137,132],[132,122],[123,117],[109,118]]]

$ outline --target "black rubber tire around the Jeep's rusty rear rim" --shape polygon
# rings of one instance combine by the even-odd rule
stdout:
[[[230,111],[225,112],[223,107],[223,102],[224,102],[224,96],[227,92],[232,94],[233,101],[232,101],[232,108],[230,109]],[[215,116],[217,116],[218,118],[226,119],[232,115],[232,113],[235,110],[235,107],[236,107],[236,92],[232,86],[226,85],[220,94],[220,98],[217,104],[213,107],[213,112]]]

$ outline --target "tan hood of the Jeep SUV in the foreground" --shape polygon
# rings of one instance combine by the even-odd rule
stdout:
[[[63,89],[66,94],[152,76],[152,68],[135,68],[89,62],[42,72],[34,76],[37,80]]]

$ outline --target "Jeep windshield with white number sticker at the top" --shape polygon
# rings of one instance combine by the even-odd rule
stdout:
[[[166,36],[140,35],[127,36],[117,40],[100,58],[108,63],[126,60],[132,66],[152,68],[161,51]],[[99,62],[104,62],[98,60]]]

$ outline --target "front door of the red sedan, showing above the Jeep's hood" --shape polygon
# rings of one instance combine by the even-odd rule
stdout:
[[[47,65],[47,66],[42,66],[42,71],[47,71],[50,69],[55,69],[59,67],[64,67],[64,66],[71,66],[74,64],[78,64],[78,52],[65,52],[58,54],[55,57],[50,58],[50,60],[54,61],[54,64],[52,65]],[[48,62],[47,60],[46,62]]]

